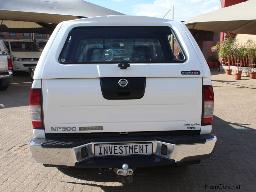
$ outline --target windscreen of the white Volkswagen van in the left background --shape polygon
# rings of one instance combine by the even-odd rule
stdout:
[[[34,42],[11,42],[12,52],[39,52],[37,45]]]

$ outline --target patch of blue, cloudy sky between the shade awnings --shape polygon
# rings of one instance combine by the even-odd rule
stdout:
[[[163,17],[174,5],[174,19],[188,20],[219,9],[219,0],[85,0],[126,15]],[[171,12],[165,17],[171,19]]]

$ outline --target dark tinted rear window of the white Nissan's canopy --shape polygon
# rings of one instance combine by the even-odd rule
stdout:
[[[75,28],[61,63],[182,62],[184,55],[168,27]]]

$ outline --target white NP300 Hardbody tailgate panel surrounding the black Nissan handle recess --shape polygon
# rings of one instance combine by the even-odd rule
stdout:
[[[131,78],[126,79],[129,82]],[[147,77],[144,96],[134,100],[105,99],[99,78],[47,79],[42,83],[46,133],[201,127],[202,77]]]

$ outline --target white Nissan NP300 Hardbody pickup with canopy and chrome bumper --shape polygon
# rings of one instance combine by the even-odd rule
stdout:
[[[45,166],[113,169],[128,182],[136,167],[199,163],[217,141],[210,75],[182,22],[61,22],[34,73],[32,155]]]

